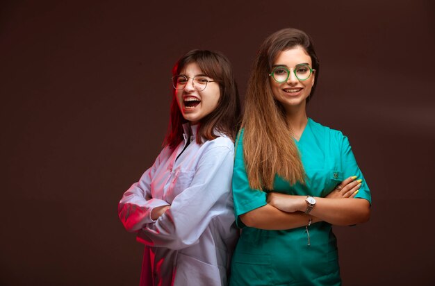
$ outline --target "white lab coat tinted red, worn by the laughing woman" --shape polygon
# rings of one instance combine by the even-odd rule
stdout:
[[[118,214],[145,244],[140,285],[227,285],[238,238],[231,194],[233,142],[220,134],[197,144],[197,126],[183,128],[184,142],[161,151],[124,193]],[[171,205],[170,210],[153,221],[151,211],[161,205]]]

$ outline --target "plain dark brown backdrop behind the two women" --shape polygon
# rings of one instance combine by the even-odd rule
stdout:
[[[62,2],[62,3],[60,3]],[[336,228],[345,285],[434,285],[433,1],[2,1],[1,285],[137,285],[117,202],[161,149],[170,69],[225,53],[243,94],[293,26],[321,61],[309,116],[350,138],[367,224]]]

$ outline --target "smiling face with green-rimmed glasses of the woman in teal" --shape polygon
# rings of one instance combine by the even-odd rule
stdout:
[[[310,95],[311,87],[314,85],[315,70],[305,81],[300,81],[293,72],[301,64],[312,67],[311,57],[302,47],[295,47],[281,51],[274,60],[272,69],[275,67],[286,67],[290,70],[287,81],[278,83],[270,76],[270,87],[274,98],[279,101],[287,111],[305,108],[306,99]],[[272,71],[271,71],[272,72]]]

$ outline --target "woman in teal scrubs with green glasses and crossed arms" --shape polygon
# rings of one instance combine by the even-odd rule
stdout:
[[[242,231],[230,285],[341,285],[331,226],[370,217],[370,190],[347,137],[306,115],[318,75],[303,31],[278,31],[258,51],[236,142]]]

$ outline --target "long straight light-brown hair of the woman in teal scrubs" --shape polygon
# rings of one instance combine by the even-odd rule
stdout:
[[[248,81],[243,116],[243,155],[252,189],[273,190],[276,175],[290,184],[305,182],[299,151],[285,118],[284,107],[274,99],[268,74],[281,51],[302,47],[311,57],[314,76],[319,74],[319,60],[311,37],[295,28],[284,28],[265,39],[256,55]],[[313,96],[316,83],[311,89]]]

